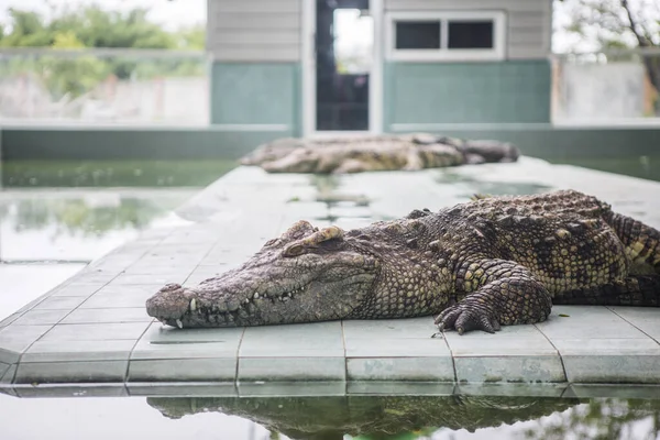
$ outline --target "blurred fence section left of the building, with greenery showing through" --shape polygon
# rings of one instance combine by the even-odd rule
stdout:
[[[4,123],[176,123],[209,121],[204,52],[0,50]]]

